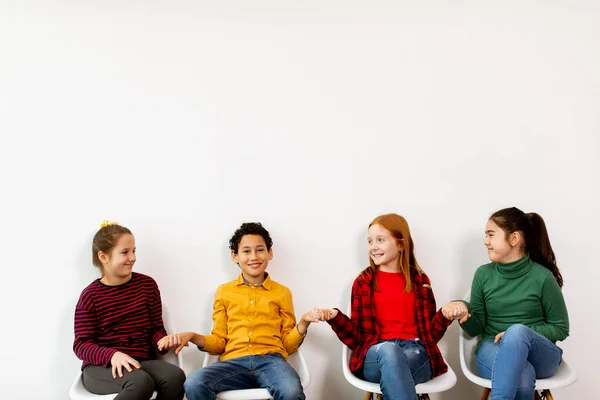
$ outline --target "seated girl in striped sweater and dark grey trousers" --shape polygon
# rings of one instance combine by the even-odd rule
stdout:
[[[155,390],[158,399],[181,400],[184,372],[156,360],[180,340],[165,331],[154,279],[132,272],[131,231],[105,221],[94,236],[92,260],[102,276],[75,308],[73,350],[83,360],[83,385],[95,394],[118,393],[118,400],[148,400]]]

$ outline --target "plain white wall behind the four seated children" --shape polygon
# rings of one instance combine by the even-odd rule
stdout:
[[[598,2],[0,4],[0,398],[67,398],[105,218],[133,230],[180,329],[206,332],[243,221],[270,229],[300,315],[346,307],[386,212],[411,223],[438,302],[461,297],[487,217],[512,205],[545,217],[565,277],[580,379],[555,394],[591,393]],[[478,395],[457,342],[452,326],[459,383],[432,398]],[[362,399],[327,325],[304,350],[309,399]]]

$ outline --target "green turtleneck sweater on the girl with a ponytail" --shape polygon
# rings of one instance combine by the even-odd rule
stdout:
[[[514,324],[523,324],[552,342],[569,336],[569,315],[562,291],[552,272],[529,256],[508,264],[490,263],[475,272],[471,318],[461,327],[482,341]]]

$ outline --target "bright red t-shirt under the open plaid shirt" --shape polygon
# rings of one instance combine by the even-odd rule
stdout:
[[[406,279],[401,272],[377,270],[373,292],[379,339],[414,339],[418,337],[415,293],[406,293]]]

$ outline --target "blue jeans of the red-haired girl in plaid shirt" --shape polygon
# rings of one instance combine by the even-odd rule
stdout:
[[[369,347],[363,377],[379,383],[384,400],[415,400],[415,385],[431,379],[431,364],[418,339],[380,340]]]

